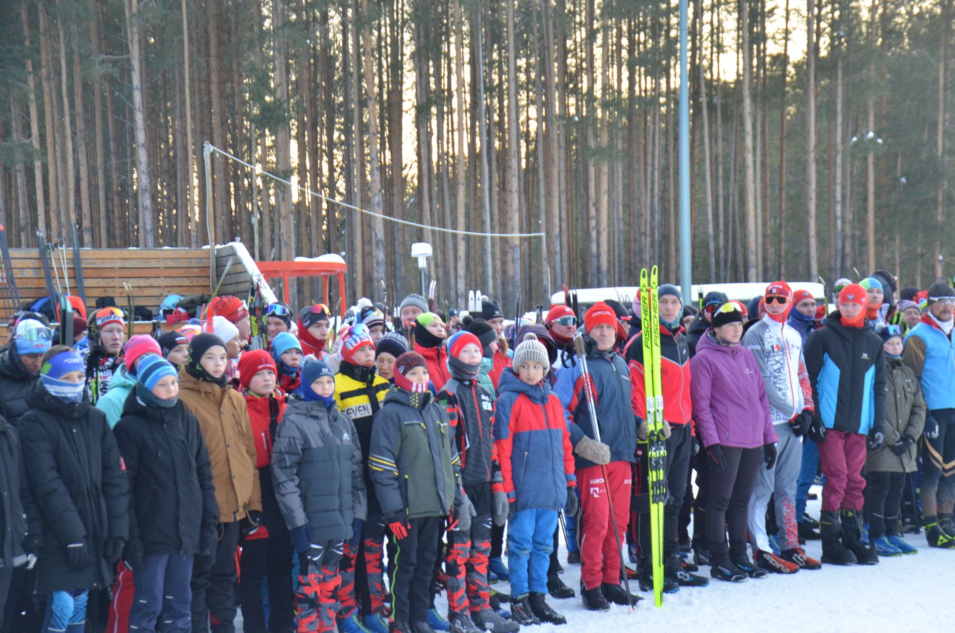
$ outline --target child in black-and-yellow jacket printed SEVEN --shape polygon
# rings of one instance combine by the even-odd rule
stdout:
[[[335,374],[335,402],[355,426],[358,444],[365,458],[364,476],[368,479],[368,453],[371,447],[371,419],[381,408],[388,392],[388,381],[374,372],[374,344],[367,326],[358,323],[342,330],[338,338],[342,358]],[[346,626],[357,617],[356,599],[361,599],[361,615],[373,630],[387,629],[385,583],[382,551],[385,522],[374,492],[368,494],[367,520],[356,523],[353,535],[344,545],[342,586],[339,600]],[[362,573],[356,570],[361,569]],[[355,578],[358,587],[355,587]],[[374,621],[374,622],[371,622]]]

